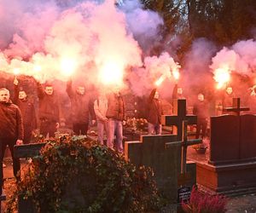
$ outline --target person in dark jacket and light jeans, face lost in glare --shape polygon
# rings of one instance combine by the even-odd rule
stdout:
[[[120,94],[119,87],[114,86],[108,97],[108,118],[107,146],[113,149],[113,136],[116,135],[115,149],[119,153],[124,152],[123,148],[123,124],[125,124],[125,101]]]

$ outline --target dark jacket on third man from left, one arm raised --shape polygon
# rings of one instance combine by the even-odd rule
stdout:
[[[47,95],[40,83],[38,83],[38,99],[40,120],[49,122],[59,122],[60,118],[60,103],[55,94]]]

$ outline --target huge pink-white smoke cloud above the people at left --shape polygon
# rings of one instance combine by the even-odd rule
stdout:
[[[70,74],[93,83],[116,75],[123,78],[127,67],[143,65],[134,37],[151,39],[162,23],[158,14],[129,2],[127,8],[119,8],[113,0],[1,1],[0,70],[42,82],[65,80]],[[135,20],[133,13],[142,18]],[[137,32],[132,21],[143,29]]]

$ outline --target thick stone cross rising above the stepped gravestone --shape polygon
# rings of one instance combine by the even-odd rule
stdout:
[[[174,125],[173,134],[177,135],[178,141],[182,141],[183,121],[187,120],[188,124],[196,124],[197,117],[195,115],[187,115],[185,99],[177,99],[173,102],[173,114],[174,115],[163,115],[161,124],[166,126]]]

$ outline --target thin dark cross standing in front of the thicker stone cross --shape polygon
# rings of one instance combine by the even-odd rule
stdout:
[[[187,149],[189,146],[191,145],[195,145],[195,144],[200,144],[201,143],[201,139],[193,139],[193,140],[188,140],[188,121],[183,121],[183,129],[182,129],[182,168],[181,168],[181,173],[185,174],[187,172],[187,166],[186,166],[186,162],[187,162]],[[169,144],[166,144],[166,147],[169,147]]]

